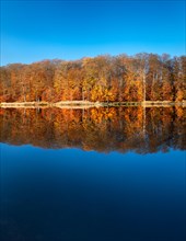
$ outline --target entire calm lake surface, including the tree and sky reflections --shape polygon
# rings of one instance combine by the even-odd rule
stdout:
[[[183,107],[0,108],[2,241],[185,241]]]

